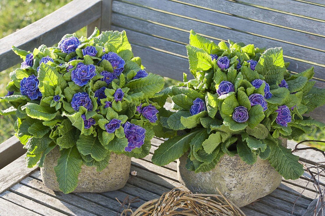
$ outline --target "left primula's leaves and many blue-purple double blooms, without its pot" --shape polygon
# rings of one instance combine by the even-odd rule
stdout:
[[[125,32],[89,37],[67,34],[58,47],[32,53],[13,47],[23,62],[10,73],[0,102],[15,113],[15,135],[27,149],[28,167],[43,166],[47,153],[60,150],[54,167],[59,188],[72,192],[83,164],[100,172],[111,152],[142,158],[149,154],[163,78],[148,74],[134,57]]]

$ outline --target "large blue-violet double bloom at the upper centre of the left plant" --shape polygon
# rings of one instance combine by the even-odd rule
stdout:
[[[72,70],[71,72],[71,79],[77,85],[84,86],[89,80],[96,76],[95,72],[95,65],[84,65],[83,63],[79,62],[76,69]]]

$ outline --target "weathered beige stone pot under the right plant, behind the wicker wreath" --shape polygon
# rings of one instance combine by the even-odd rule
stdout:
[[[287,146],[287,139],[282,139],[282,145]],[[213,170],[200,173],[188,171],[185,168],[186,159],[186,156],[182,156],[177,160],[180,183],[192,193],[218,194],[218,188],[238,207],[272,193],[282,181],[282,176],[270,163],[260,158],[249,165],[238,155],[224,155]]]

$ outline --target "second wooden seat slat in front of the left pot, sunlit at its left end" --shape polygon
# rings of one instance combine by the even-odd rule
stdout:
[[[86,210],[80,209],[74,205],[59,200],[56,197],[48,196],[40,191],[34,190],[22,184],[15,184],[10,188],[10,190],[14,193],[19,194],[20,196],[32,199],[34,202],[40,203],[41,205],[48,206],[49,208],[55,209],[64,214],[76,215],[76,216],[77,215],[95,216],[95,214],[92,214]]]

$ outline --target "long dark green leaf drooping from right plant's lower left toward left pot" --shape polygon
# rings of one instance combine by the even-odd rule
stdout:
[[[183,136],[176,136],[163,142],[152,156],[152,162],[158,166],[164,166],[180,158],[189,149],[192,138],[201,130],[187,133]]]

